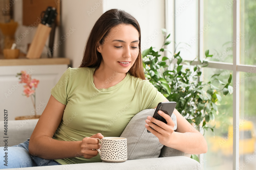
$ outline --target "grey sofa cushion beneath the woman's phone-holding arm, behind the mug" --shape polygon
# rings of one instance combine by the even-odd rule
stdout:
[[[157,158],[163,145],[152,133],[148,133],[145,127],[147,116],[153,116],[155,109],[145,109],[137,113],[124,129],[120,137],[127,138],[127,160]],[[172,120],[177,129],[176,116]]]

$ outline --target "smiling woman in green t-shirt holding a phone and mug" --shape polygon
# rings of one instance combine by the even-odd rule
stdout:
[[[111,9],[92,28],[81,66],[68,68],[51,89],[30,139],[10,148],[29,152],[24,159],[33,161],[24,166],[101,162],[95,138],[120,136],[136,113],[163,101],[167,99],[145,80],[137,20]],[[193,154],[207,151],[204,137],[177,110],[176,132],[170,117],[159,114],[167,124],[148,116],[145,127],[163,145]]]

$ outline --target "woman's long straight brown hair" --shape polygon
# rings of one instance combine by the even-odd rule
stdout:
[[[118,10],[110,9],[100,16],[100,18],[95,22],[90,35],[87,39],[87,43],[84,49],[83,60],[80,67],[99,67],[102,56],[97,48],[100,44],[104,43],[110,29],[118,26],[119,24],[131,24],[133,25],[139,33],[139,54],[135,60],[133,66],[130,68],[129,72],[131,75],[145,80],[145,74],[142,65],[141,58],[141,29],[138,21],[129,13]]]

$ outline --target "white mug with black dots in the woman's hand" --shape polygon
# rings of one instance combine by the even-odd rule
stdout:
[[[96,138],[101,143],[97,149],[100,159],[104,162],[124,162],[127,160],[127,139],[121,137]]]

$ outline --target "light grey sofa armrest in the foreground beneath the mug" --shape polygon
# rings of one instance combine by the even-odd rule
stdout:
[[[199,162],[186,156],[171,156],[165,158],[149,158],[128,160],[122,163],[82,163],[70,165],[53,165],[23,168],[24,170],[63,170],[63,169],[170,169],[170,170],[200,170]]]

